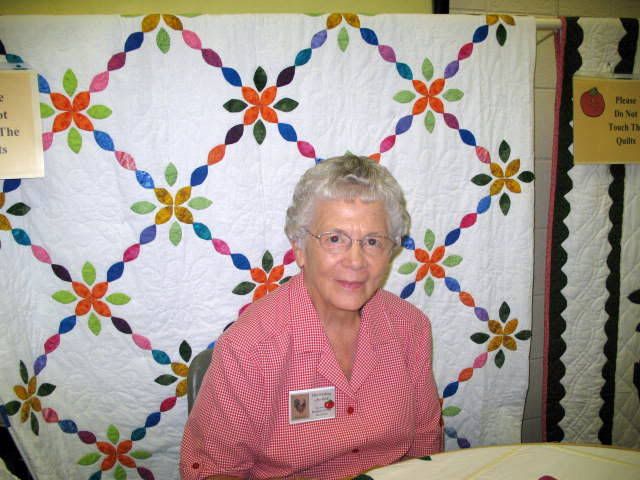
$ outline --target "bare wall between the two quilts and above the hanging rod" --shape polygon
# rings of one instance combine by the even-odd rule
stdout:
[[[451,0],[450,13],[514,13],[535,16],[640,18],[640,0]],[[544,270],[547,214],[556,86],[553,35],[538,32],[535,73],[535,242],[533,279],[533,337],[529,392],[523,418],[523,442],[542,440],[542,362],[544,325]]]

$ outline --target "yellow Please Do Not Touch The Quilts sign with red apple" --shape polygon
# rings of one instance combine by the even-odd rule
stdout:
[[[573,162],[640,163],[640,80],[573,77]]]

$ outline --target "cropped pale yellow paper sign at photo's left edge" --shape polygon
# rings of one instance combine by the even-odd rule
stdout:
[[[0,67],[0,178],[44,176],[37,74]]]

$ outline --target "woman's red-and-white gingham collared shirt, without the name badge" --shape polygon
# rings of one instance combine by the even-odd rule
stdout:
[[[290,391],[330,386],[335,418],[289,423]],[[362,309],[347,380],[299,274],[217,342],[185,427],[180,473],[335,479],[441,449],[427,317],[376,292]]]

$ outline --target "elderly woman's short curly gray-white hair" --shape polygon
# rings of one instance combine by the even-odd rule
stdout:
[[[284,231],[299,246],[314,214],[315,202],[322,200],[382,201],[387,212],[389,236],[400,245],[409,233],[411,217],[404,193],[389,170],[367,157],[344,155],[318,163],[307,170],[296,185],[287,209]]]

